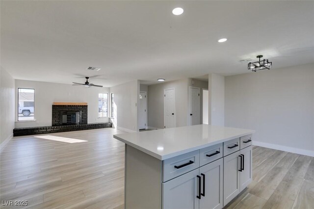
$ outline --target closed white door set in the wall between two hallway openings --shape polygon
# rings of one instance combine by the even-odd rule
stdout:
[[[164,128],[176,127],[175,89],[164,90]]]

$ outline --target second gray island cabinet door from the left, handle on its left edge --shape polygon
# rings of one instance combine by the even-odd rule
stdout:
[[[223,207],[223,159],[200,167],[202,193],[200,209],[221,209]],[[205,178],[205,189],[203,188]]]

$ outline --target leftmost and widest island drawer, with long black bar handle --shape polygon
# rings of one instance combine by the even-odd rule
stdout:
[[[200,167],[199,150],[165,159],[162,161],[162,182],[176,178],[198,167]]]

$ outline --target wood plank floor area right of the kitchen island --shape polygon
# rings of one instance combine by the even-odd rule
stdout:
[[[253,146],[253,182],[225,209],[314,209],[314,157]]]

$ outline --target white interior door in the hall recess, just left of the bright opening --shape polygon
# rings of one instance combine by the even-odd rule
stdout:
[[[200,88],[189,87],[189,115],[188,125],[200,124]]]

